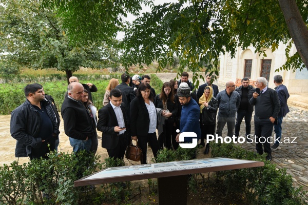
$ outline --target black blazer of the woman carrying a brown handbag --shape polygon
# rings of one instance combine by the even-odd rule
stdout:
[[[142,97],[136,97],[131,101],[130,113],[131,136],[148,135],[150,117]]]

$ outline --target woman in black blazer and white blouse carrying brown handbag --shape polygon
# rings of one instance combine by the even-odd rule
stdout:
[[[160,149],[156,136],[157,112],[150,89],[149,84],[140,84],[136,98],[130,103],[131,139],[138,139],[138,145],[143,153],[142,164],[146,163],[146,146],[148,142],[155,158]]]

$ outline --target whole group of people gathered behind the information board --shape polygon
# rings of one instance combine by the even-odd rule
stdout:
[[[218,86],[211,83],[210,75],[206,75],[206,83],[197,92],[188,77],[188,73],[183,72],[179,81],[165,82],[156,95],[150,86],[150,76],[130,77],[123,73],[121,84],[118,79],[110,79],[104,107],[98,111],[91,96],[91,92],[97,91],[95,85],[81,84],[78,78],[71,77],[61,115],[73,151],[87,150],[95,154],[98,130],[103,133],[102,147],[107,149],[109,157],[123,159],[127,146],[137,140],[144,164],[147,163],[147,145],[157,157],[160,149],[176,150],[179,143],[192,141],[191,137],[180,141],[181,133],[195,132],[197,139],[201,139],[199,146],[204,146],[204,154],[208,154],[206,136],[215,133],[222,136],[227,124],[227,136],[237,138],[243,118],[245,136],[251,140],[251,119],[255,109],[256,150],[259,154],[267,153],[267,160],[272,159],[272,149],[279,149],[283,117],[289,112],[287,98],[290,95],[282,85],[282,76],[274,77],[276,91],[267,87],[264,77],[256,79],[256,88],[244,77],[242,86],[235,88],[234,82],[228,81],[225,90],[220,92]],[[45,94],[42,85],[30,84],[24,91],[25,103],[11,114],[11,135],[17,140],[15,156],[47,158],[49,149],[57,150],[59,145],[60,116],[53,98]],[[260,138],[272,136],[273,128],[276,139],[271,147],[268,140]]]

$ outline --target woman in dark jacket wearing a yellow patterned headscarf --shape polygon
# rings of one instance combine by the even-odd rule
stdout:
[[[213,96],[213,88],[206,86],[203,95],[199,98],[200,105],[200,128],[201,128],[201,144],[207,134],[215,135],[216,114],[218,101]],[[207,142],[204,154],[209,152],[209,143]]]

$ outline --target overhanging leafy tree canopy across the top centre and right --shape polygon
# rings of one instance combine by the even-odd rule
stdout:
[[[126,27],[121,16],[125,16],[124,12],[132,7],[132,13],[138,15],[142,2],[131,5],[128,0],[96,0],[84,4],[81,1],[43,0],[60,8],[64,22],[67,22],[65,25],[70,30],[68,35],[74,40],[84,40],[83,27],[91,32],[91,38],[86,39],[94,41],[108,40],[115,31],[124,29],[125,66],[150,64],[157,59],[161,68],[171,65],[176,54],[180,58],[179,72],[185,66],[197,72],[202,65],[209,64],[208,69],[214,67],[218,74],[221,52],[227,51],[234,56],[238,47],[254,46],[257,52],[265,54],[266,48],[275,51],[282,42],[287,45],[287,61],[281,69],[308,68],[307,49],[303,49],[308,46],[305,25],[308,23],[308,0],[179,0],[158,6],[147,1],[151,11],[139,16],[132,24],[126,23]],[[116,8],[112,11],[110,5]],[[78,16],[82,25],[75,23],[71,19],[73,16]],[[102,35],[102,30],[112,22],[117,28]],[[292,43],[298,50],[293,56],[290,55]],[[301,45],[303,48],[300,48]],[[198,75],[194,77],[198,78]]]

